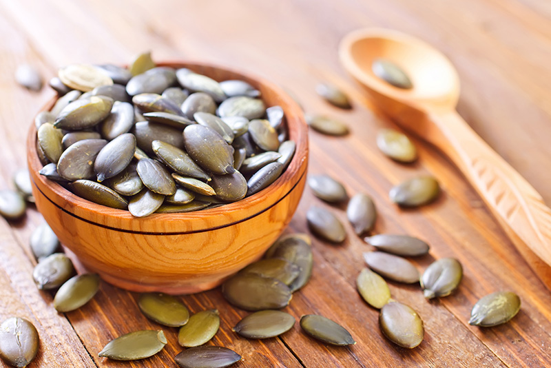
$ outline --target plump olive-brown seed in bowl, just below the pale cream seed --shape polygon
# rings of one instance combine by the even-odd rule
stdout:
[[[111,112],[113,99],[105,96],[90,96],[65,106],[57,116],[54,126],[65,130],[83,130],[98,125]]]

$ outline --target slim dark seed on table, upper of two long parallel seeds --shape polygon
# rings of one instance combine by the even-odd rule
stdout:
[[[386,253],[397,256],[422,256],[428,253],[428,244],[421,239],[407,235],[377,234],[368,236],[364,240]]]

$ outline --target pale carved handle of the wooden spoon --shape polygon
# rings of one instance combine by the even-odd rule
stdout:
[[[521,254],[551,285],[551,209],[511,165],[482,140],[456,111],[429,115],[443,135],[435,143],[468,178]],[[541,260],[534,257],[528,249]]]

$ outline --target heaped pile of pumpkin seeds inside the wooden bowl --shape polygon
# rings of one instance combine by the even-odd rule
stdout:
[[[260,192],[295,152],[280,106],[245,81],[156,66],[69,65],[41,112],[40,174],[137,217],[218,207]],[[83,93],[84,92],[84,93]]]

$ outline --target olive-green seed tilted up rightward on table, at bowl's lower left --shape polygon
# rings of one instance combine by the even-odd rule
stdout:
[[[99,289],[99,276],[82,274],[61,285],[54,297],[54,308],[60,313],[74,311],[88,303]]]

